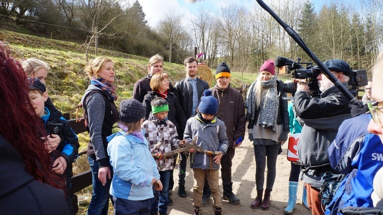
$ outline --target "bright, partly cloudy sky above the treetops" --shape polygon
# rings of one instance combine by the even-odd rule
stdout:
[[[134,2],[135,0],[128,0]],[[193,14],[198,14],[199,9],[218,11],[223,5],[234,3],[233,0],[200,0],[190,3],[188,0],[138,0],[146,14],[146,20],[151,27],[155,27],[158,21],[169,11],[182,14],[185,20],[190,20]],[[263,0],[267,4],[267,0]],[[328,0],[313,0],[316,9],[320,9]],[[260,7],[256,0],[235,0],[238,5],[245,8]],[[303,4],[303,3],[302,3]]]

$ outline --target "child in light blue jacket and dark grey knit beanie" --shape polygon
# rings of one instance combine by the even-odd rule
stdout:
[[[120,104],[121,130],[107,137],[107,151],[113,167],[110,195],[115,215],[150,215],[153,184],[163,189],[160,174],[144,131],[140,130],[145,116],[144,106],[135,99]]]

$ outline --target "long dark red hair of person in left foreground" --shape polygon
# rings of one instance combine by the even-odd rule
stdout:
[[[49,152],[41,139],[46,132],[29,100],[27,77],[1,41],[0,80],[0,134],[18,150],[25,169],[37,181],[63,189],[63,181],[52,171]]]

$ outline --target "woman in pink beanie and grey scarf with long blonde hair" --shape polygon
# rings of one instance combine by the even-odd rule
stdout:
[[[255,184],[257,197],[252,209],[267,210],[273,189],[277,156],[281,144],[289,133],[287,101],[283,100],[283,82],[275,76],[274,60],[267,60],[259,70],[246,96],[246,118],[249,121],[249,139],[253,141],[255,155]],[[267,157],[267,162],[266,162]],[[266,190],[262,201],[265,167],[267,165]]]

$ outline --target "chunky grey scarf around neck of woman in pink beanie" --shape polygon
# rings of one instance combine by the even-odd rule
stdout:
[[[247,113],[246,117],[248,119],[254,120],[255,117],[255,85],[256,81],[250,86],[249,93],[246,98],[246,107]],[[275,125],[278,117],[279,109],[279,99],[277,97],[277,77],[273,77],[268,81],[262,81],[261,85],[263,87],[263,98],[261,101],[260,115],[259,115],[259,125],[263,128],[269,128],[275,131]],[[277,110],[275,111],[275,108]]]

